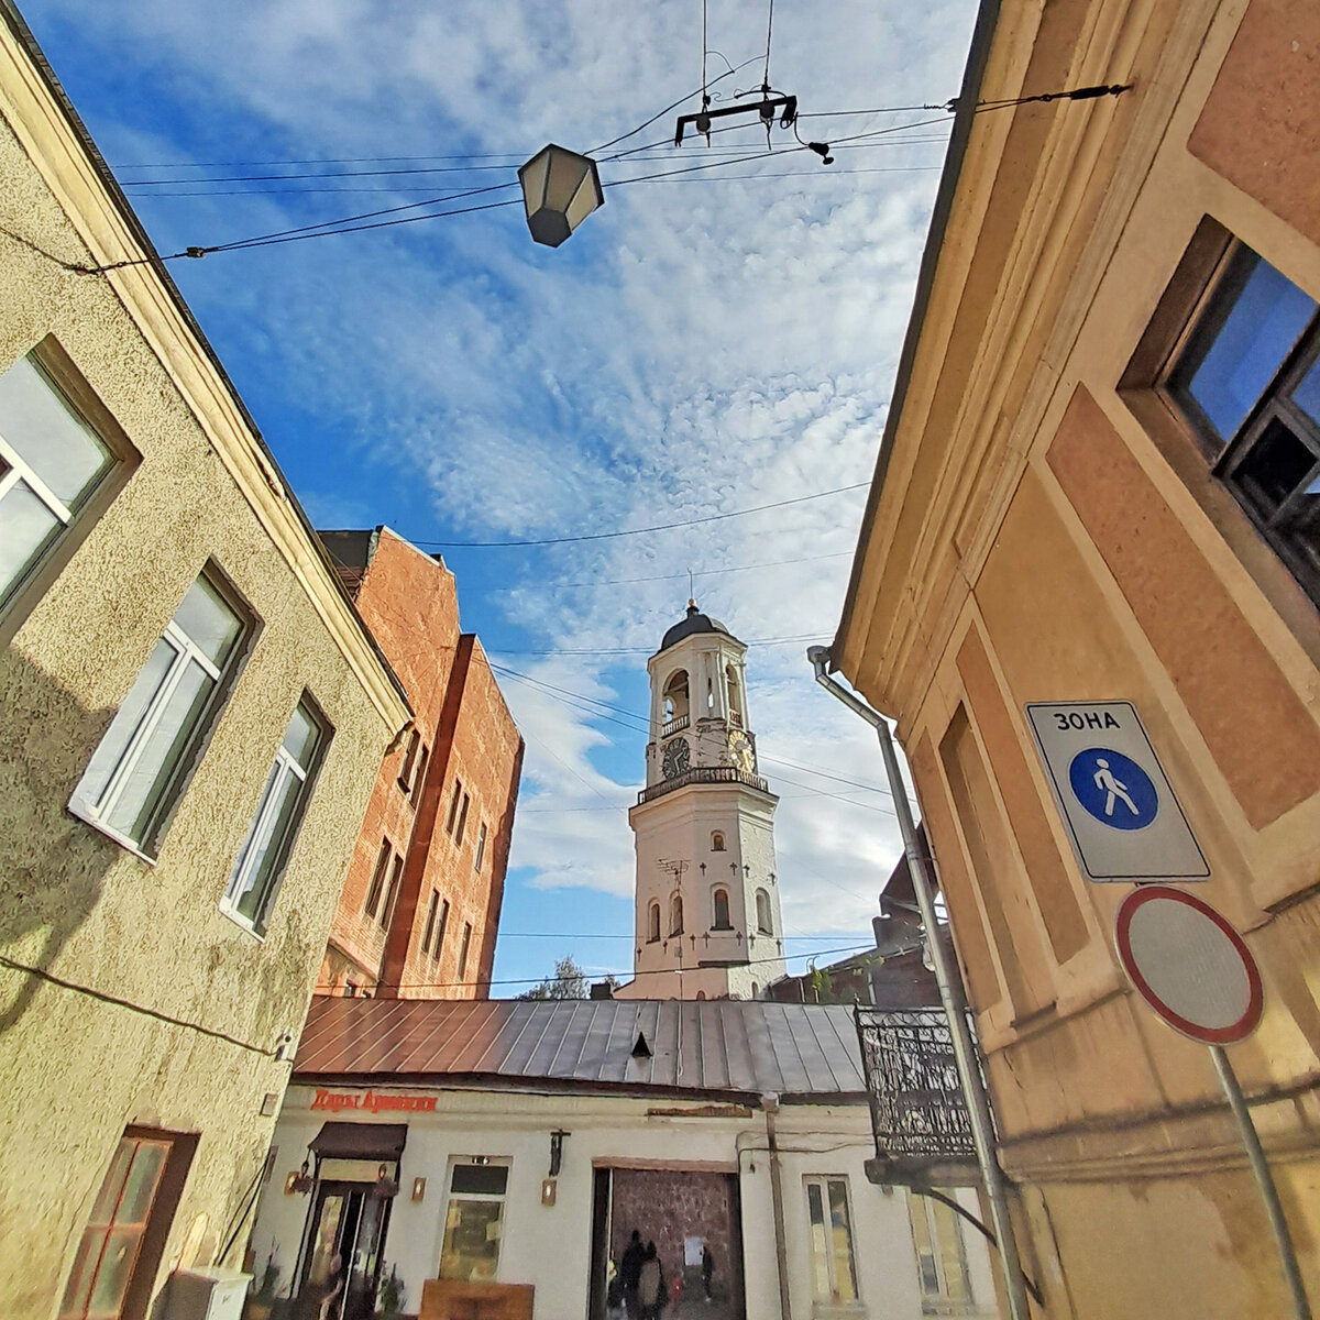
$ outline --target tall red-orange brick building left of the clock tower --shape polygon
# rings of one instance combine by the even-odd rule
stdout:
[[[484,995],[523,739],[444,562],[385,527],[321,540],[416,717],[380,766],[317,991]]]

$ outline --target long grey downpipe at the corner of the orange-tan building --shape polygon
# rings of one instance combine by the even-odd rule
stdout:
[[[931,950],[931,961],[935,965],[935,979],[940,987],[940,1002],[944,1005],[945,1016],[949,1019],[949,1034],[953,1038],[953,1057],[958,1065],[962,1098],[968,1104],[968,1113],[972,1118],[972,1139],[977,1148],[977,1164],[981,1167],[981,1179],[990,1199],[990,1222],[994,1225],[995,1237],[999,1239],[999,1258],[1003,1262],[1003,1286],[1008,1298],[1008,1315],[1011,1320],[1031,1320],[1024,1275],[1022,1272],[1022,1259],[1018,1255],[1018,1241],[1014,1236],[1012,1216],[1008,1210],[1007,1180],[995,1155],[994,1121],[990,1117],[990,1101],[986,1096],[985,1081],[981,1077],[972,1030],[968,1027],[968,1001],[962,993],[962,978],[953,968],[949,950],[945,948],[944,941],[935,933],[939,931],[935,912],[935,887],[931,883],[925,857],[923,857],[917,841],[916,822],[912,820],[912,807],[908,803],[907,785],[903,783],[898,752],[894,748],[894,735],[890,733],[888,722],[878,710],[873,710],[865,701],[836,682],[826,673],[826,665],[830,661],[829,647],[812,647],[807,652],[807,659],[816,671],[816,681],[832,697],[843,702],[849,710],[861,715],[862,719],[871,725],[879,739],[880,756],[884,760],[884,774],[890,783],[890,793],[894,797],[894,813],[899,818],[903,851],[907,855],[908,873],[912,876],[912,890],[916,894],[917,907],[921,909],[921,923],[928,933],[925,944]],[[767,1118],[767,1126],[768,1122]]]

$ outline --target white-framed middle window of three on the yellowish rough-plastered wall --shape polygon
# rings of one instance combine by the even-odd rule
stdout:
[[[92,752],[70,809],[150,851],[218,705],[244,620],[203,573]]]

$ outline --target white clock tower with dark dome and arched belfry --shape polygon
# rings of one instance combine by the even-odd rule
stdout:
[[[688,602],[647,661],[647,787],[636,836],[635,979],[626,999],[755,998],[784,975],[779,799],[756,774],[747,647]]]

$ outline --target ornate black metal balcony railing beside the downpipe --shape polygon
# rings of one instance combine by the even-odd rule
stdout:
[[[942,1008],[858,1006],[878,1162],[892,1181],[924,1181],[937,1166],[975,1160],[972,1118]]]

